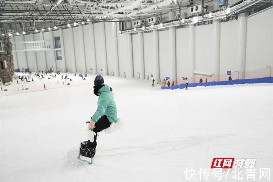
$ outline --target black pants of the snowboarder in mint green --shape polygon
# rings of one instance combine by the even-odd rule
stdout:
[[[99,120],[95,123],[95,128],[93,129],[93,132],[96,133],[94,136],[94,142],[90,142],[90,140],[87,141],[88,147],[96,147],[97,146],[97,133],[99,133],[101,130],[104,130],[108,128],[111,125],[110,121],[107,119],[106,116],[101,116]]]

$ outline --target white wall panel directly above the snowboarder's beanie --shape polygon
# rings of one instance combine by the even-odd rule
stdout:
[[[104,23],[94,23],[97,73],[107,75]],[[101,71],[102,70],[102,71]]]

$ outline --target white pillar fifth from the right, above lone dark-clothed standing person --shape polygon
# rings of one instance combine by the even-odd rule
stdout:
[[[158,45],[158,31],[155,30],[152,32],[153,34],[153,54],[154,54],[154,59],[155,59],[155,72],[153,73],[153,78],[155,80],[160,78],[160,74],[159,74],[159,45]],[[150,75],[149,75],[150,78]]]

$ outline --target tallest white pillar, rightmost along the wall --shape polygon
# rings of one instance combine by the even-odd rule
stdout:
[[[245,79],[245,54],[246,54],[246,26],[247,20],[245,14],[241,13],[238,17],[239,21],[239,79]]]

